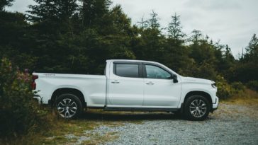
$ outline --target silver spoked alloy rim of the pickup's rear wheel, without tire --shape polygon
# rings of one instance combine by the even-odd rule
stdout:
[[[77,104],[72,99],[64,98],[57,104],[57,111],[62,117],[73,117],[77,112]]]

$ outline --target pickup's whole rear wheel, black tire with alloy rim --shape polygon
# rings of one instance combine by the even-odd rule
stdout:
[[[57,97],[55,110],[62,118],[74,119],[82,113],[82,102],[76,95],[65,93]]]

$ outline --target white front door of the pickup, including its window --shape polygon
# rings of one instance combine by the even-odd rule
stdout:
[[[169,71],[144,64],[144,103],[149,108],[176,108],[181,95],[180,83],[174,83]]]

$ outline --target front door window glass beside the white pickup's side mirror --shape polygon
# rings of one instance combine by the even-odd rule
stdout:
[[[171,74],[157,66],[145,65],[146,77],[150,79],[170,79]]]

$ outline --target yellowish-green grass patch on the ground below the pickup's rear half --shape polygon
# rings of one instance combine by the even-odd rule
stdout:
[[[131,112],[124,114],[124,112],[87,110],[77,120],[63,120],[52,114],[47,116],[50,120],[49,127],[38,133],[29,133],[22,139],[9,141],[7,144],[101,144],[118,138],[118,132],[92,134],[91,130],[103,125],[117,127],[124,123],[142,123],[142,120],[130,118],[132,115]],[[69,135],[70,137],[68,137]],[[80,138],[82,141],[79,141]]]

